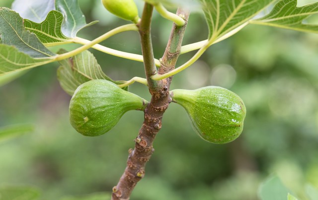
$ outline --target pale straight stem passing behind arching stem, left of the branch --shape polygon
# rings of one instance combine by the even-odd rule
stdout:
[[[85,40],[85,39],[79,38],[79,37],[74,38],[73,41],[75,43],[82,44],[82,45],[86,45],[86,44],[91,43],[91,41]],[[143,58],[142,55],[118,51],[118,50],[115,50],[115,49],[104,47],[104,46],[102,46],[100,44],[95,44],[95,45],[92,46],[92,48],[94,48],[94,49],[96,49],[98,51],[101,51],[103,53],[106,53],[106,54],[109,54],[109,55],[113,55],[113,56],[117,56],[117,57],[120,57],[120,58],[125,58],[125,59],[129,59],[129,60],[133,60],[133,61],[144,62],[144,58]],[[156,64],[157,67],[160,67],[160,61],[158,59],[155,59],[155,64]]]

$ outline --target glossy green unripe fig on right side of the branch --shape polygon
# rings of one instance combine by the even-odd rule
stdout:
[[[171,97],[185,108],[193,129],[206,141],[228,143],[242,132],[246,109],[239,96],[228,89],[217,86],[175,89]]]

